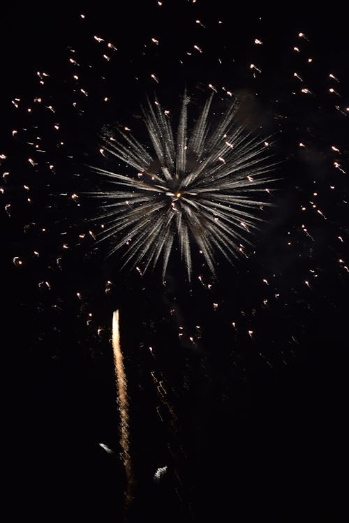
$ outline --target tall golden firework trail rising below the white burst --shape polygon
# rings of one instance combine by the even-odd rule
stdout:
[[[128,439],[128,399],[127,381],[124,369],[124,361],[120,346],[119,311],[114,311],[112,316],[112,349],[114,356],[114,369],[117,384],[117,403],[120,412],[120,436],[121,436],[121,457],[124,462],[126,472],[126,492],[125,492],[125,513],[132,501],[133,492],[133,471],[129,452]]]

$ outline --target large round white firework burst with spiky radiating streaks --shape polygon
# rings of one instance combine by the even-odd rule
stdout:
[[[119,131],[121,140],[105,136],[103,155],[135,170],[128,175],[93,167],[115,185],[92,193],[105,200],[98,241],[112,240],[110,255],[124,248],[124,265],[144,272],[162,258],[165,277],[170,254],[179,247],[191,279],[195,246],[215,274],[215,252],[230,261],[239,256],[242,242],[250,243],[249,233],[262,221],[258,210],[270,205],[261,195],[269,191],[273,166],[267,142],[237,123],[237,103],[221,117],[210,115],[212,98],[188,131],[190,99],[184,93],[176,134],[168,112],[148,100],[142,112],[153,151],[128,132]]]

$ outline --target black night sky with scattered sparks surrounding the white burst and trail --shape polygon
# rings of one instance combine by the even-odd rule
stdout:
[[[1,346],[13,520],[347,520],[348,27],[329,8],[6,8]],[[174,249],[163,283],[161,263],[121,269],[122,253],[105,257],[112,240],[96,244],[87,193],[107,184],[89,165],[132,175],[101,155],[105,126],[147,143],[140,106],[156,94],[175,124],[185,87],[194,108],[214,90],[217,115],[238,97],[238,117],[272,136],[278,180],[246,256],[230,265],[217,254],[214,279],[193,246],[189,282]],[[135,479],[127,511],[116,309]]]

